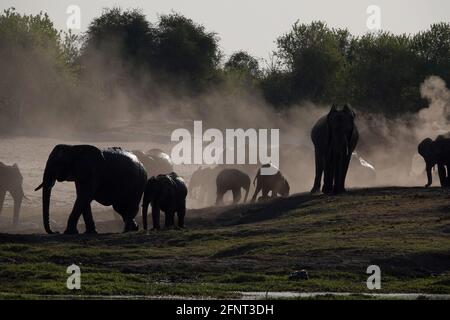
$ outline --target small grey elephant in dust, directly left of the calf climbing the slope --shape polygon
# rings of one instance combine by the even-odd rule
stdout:
[[[223,169],[216,178],[216,205],[223,203],[224,194],[233,192],[233,204],[241,200],[241,188],[245,190],[244,203],[250,191],[250,177],[238,169]]]

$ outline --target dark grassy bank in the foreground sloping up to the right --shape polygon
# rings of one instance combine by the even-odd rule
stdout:
[[[188,212],[188,228],[98,236],[0,234],[0,297],[239,297],[239,291],[450,294],[450,192],[433,188],[295,195]],[[69,291],[66,269],[82,272]],[[306,269],[309,280],[290,281]],[[31,296],[29,296],[31,295]],[[330,298],[330,297],[322,297]],[[349,298],[349,297],[347,297]]]

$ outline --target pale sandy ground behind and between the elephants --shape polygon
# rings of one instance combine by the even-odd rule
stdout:
[[[121,126],[117,124],[105,132],[97,132],[95,135],[80,134],[61,135],[61,138],[46,137],[1,137],[0,138],[0,161],[11,165],[17,163],[24,177],[23,187],[29,200],[24,200],[20,219],[20,228],[17,232],[24,230],[36,230],[42,225],[41,218],[41,192],[34,192],[34,188],[42,181],[42,174],[45,162],[53,147],[60,143],[65,144],[93,144],[100,148],[119,146],[127,150],[148,150],[160,148],[170,154],[171,146],[170,133],[174,128],[184,126],[189,127],[192,123],[149,123],[148,129],[142,123],[130,126],[129,123]],[[144,130],[145,129],[145,130]],[[286,150],[286,149],[283,149]],[[312,145],[311,150],[312,152]],[[298,154],[295,150],[288,150],[282,158],[282,171],[291,184],[291,193],[305,192],[311,188],[314,179],[314,164],[311,154]],[[283,155],[282,155],[283,156]],[[287,157],[287,158],[286,158]],[[287,159],[287,160],[286,160]],[[416,176],[410,179],[407,185],[423,185],[425,176],[420,169],[422,160],[416,159]],[[284,162],[283,162],[284,161]],[[176,165],[175,171],[183,176],[188,182],[190,176],[198,165]],[[385,174],[383,168],[377,168],[378,177],[366,168],[363,168],[357,158],[352,160],[348,176],[349,187],[386,185],[383,180],[386,176],[392,180],[392,174]],[[380,177],[383,179],[380,179]],[[253,177],[251,177],[253,178]],[[435,179],[436,181],[436,179]],[[392,181],[391,181],[392,182]],[[394,179],[395,182],[395,179]],[[400,185],[405,185],[404,183]],[[213,191],[214,192],[214,191]],[[250,197],[253,189],[250,190]],[[231,194],[225,198],[230,201]],[[67,219],[68,214],[75,200],[75,187],[73,183],[57,183],[52,190],[51,218],[56,225],[61,228]],[[213,203],[211,203],[212,205]],[[94,216],[97,221],[109,221],[117,219],[117,216],[109,208],[105,208],[93,202]],[[4,210],[0,215],[0,228],[8,226],[12,219],[12,198],[6,196]],[[188,208],[199,208],[195,199],[188,197]],[[61,217],[60,217],[61,216]]]

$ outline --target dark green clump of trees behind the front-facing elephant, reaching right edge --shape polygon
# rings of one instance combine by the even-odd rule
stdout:
[[[294,24],[277,40],[282,68],[262,81],[274,105],[309,100],[347,101],[387,116],[424,106],[420,84],[430,75],[450,81],[450,24],[439,23],[416,35],[389,32],[353,37],[323,22]],[[282,94],[280,79],[284,79]]]

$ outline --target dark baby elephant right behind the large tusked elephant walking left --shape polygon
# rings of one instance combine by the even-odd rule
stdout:
[[[166,214],[165,227],[170,228],[175,224],[175,213],[178,214],[178,227],[184,227],[186,214],[187,187],[183,178],[175,172],[160,174],[151,177],[144,191],[142,204],[142,219],[144,229],[147,230],[147,212],[149,203],[152,204],[153,229],[160,229],[159,211]]]

